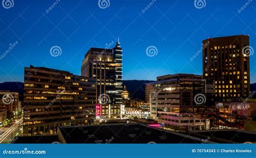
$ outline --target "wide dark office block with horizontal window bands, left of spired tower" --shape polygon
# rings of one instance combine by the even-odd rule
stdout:
[[[96,80],[67,71],[25,67],[24,135],[56,134],[57,126],[90,125]]]

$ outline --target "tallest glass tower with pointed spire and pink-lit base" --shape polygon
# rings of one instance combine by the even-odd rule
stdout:
[[[96,118],[118,119],[122,117],[122,48],[119,40],[112,49],[113,42],[105,49],[91,48],[81,67],[81,74],[96,79],[97,105]]]

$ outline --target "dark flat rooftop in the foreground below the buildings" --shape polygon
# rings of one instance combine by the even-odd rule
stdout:
[[[58,135],[22,136],[15,143],[202,143],[194,136],[141,123],[59,127]],[[60,139],[57,139],[60,138]]]

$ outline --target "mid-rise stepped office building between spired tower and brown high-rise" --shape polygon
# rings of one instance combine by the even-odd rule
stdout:
[[[214,84],[202,75],[163,75],[146,86],[150,87],[150,116],[157,122],[185,130],[210,128],[210,120],[195,113],[198,107],[214,105]]]

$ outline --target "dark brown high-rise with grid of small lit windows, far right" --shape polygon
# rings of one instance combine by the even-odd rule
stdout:
[[[246,98],[250,92],[249,36],[203,40],[203,71],[215,80],[217,101]]]

